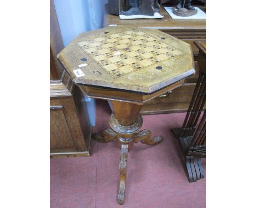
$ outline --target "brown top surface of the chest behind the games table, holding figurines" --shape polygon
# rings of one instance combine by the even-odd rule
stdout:
[[[203,9],[203,8],[202,8]],[[108,4],[105,5],[104,27],[109,25],[136,26],[161,30],[201,30],[206,31],[206,20],[174,20],[161,6],[159,13],[162,19],[121,20],[118,15],[109,14]]]

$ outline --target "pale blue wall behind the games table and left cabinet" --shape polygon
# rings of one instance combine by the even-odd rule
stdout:
[[[66,47],[75,36],[103,27],[104,5],[108,0],[54,0],[63,44]],[[95,126],[95,99],[85,96],[89,119]]]

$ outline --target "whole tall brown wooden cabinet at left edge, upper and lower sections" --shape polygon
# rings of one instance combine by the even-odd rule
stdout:
[[[50,157],[89,156],[91,125],[84,95],[56,58],[63,46],[50,1]]]

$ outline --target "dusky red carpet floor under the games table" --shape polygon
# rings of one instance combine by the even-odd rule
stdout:
[[[109,127],[107,101],[97,101],[96,127]],[[50,207],[206,207],[206,178],[189,183],[178,141],[170,131],[185,113],[144,115],[142,129],[164,137],[156,146],[137,143],[129,151],[125,204],[117,204],[120,149],[92,140],[91,157],[50,159]],[[202,159],[206,175],[206,160]]]

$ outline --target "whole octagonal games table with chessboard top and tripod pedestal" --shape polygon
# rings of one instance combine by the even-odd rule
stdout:
[[[144,102],[167,93],[195,73],[186,42],[155,29],[115,26],[79,34],[57,57],[73,82],[89,97],[112,102],[112,129],[92,138],[121,146],[118,203],[124,204],[127,154],[134,143],[156,145],[139,131]]]

